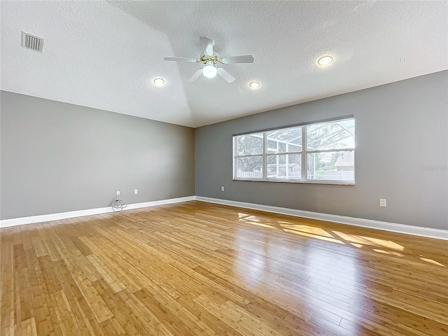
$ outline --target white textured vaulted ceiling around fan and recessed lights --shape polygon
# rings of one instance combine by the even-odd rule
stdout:
[[[1,1],[1,90],[198,127],[448,68],[447,1]],[[21,32],[45,38],[21,48]],[[187,78],[199,36],[237,80]],[[335,62],[316,65],[322,55]],[[401,60],[405,57],[405,60]],[[163,87],[151,85],[155,77]],[[261,87],[250,90],[248,82]]]

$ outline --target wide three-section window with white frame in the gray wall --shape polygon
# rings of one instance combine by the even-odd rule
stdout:
[[[311,183],[355,181],[353,116],[233,137],[234,179]]]

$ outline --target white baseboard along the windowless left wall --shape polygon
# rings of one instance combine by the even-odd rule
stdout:
[[[157,205],[163,205],[163,204],[187,202],[187,201],[193,201],[193,200],[195,200],[195,196],[171,198],[169,200],[160,200],[160,201],[153,201],[153,202],[127,204],[127,207],[125,209],[123,209],[123,211],[131,210],[131,209],[145,208],[145,207],[155,207]],[[59,219],[74,218],[74,217],[81,217],[81,216],[106,214],[108,212],[113,212],[111,207],[86,209],[86,210],[78,210],[78,211],[68,211],[68,212],[61,212],[59,214],[47,214],[47,215],[3,219],[2,221],[0,221],[0,228],[8,228],[10,226],[25,225],[25,224],[31,224],[31,223],[57,221]]]

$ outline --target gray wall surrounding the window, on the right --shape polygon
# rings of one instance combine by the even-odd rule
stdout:
[[[448,229],[447,101],[442,71],[197,128],[196,195]],[[232,181],[232,134],[349,114],[355,186]]]

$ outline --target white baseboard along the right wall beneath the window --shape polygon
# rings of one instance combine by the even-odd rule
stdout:
[[[296,217],[318,219],[321,221],[329,221],[329,222],[341,223],[341,224],[347,224],[347,225],[355,225],[355,226],[360,226],[363,228],[371,228],[371,229],[386,230],[386,231],[391,231],[391,232],[405,233],[407,235],[416,235],[416,236],[421,236],[421,237],[429,237],[429,238],[448,240],[448,230],[440,230],[440,229],[433,229],[433,228],[421,228],[419,226],[414,226],[414,225],[373,221],[371,219],[353,218],[353,217],[348,217],[348,216],[321,214],[321,213],[312,212],[312,211],[288,209],[288,208],[281,208],[281,207],[272,207],[269,205],[221,200],[218,198],[210,198],[210,197],[202,197],[202,196],[196,196],[196,200],[202,201],[202,202],[230,205],[232,207],[241,207],[241,208],[247,208],[247,209],[273,212],[275,214],[283,214],[283,215],[290,215],[290,216],[296,216]]]

